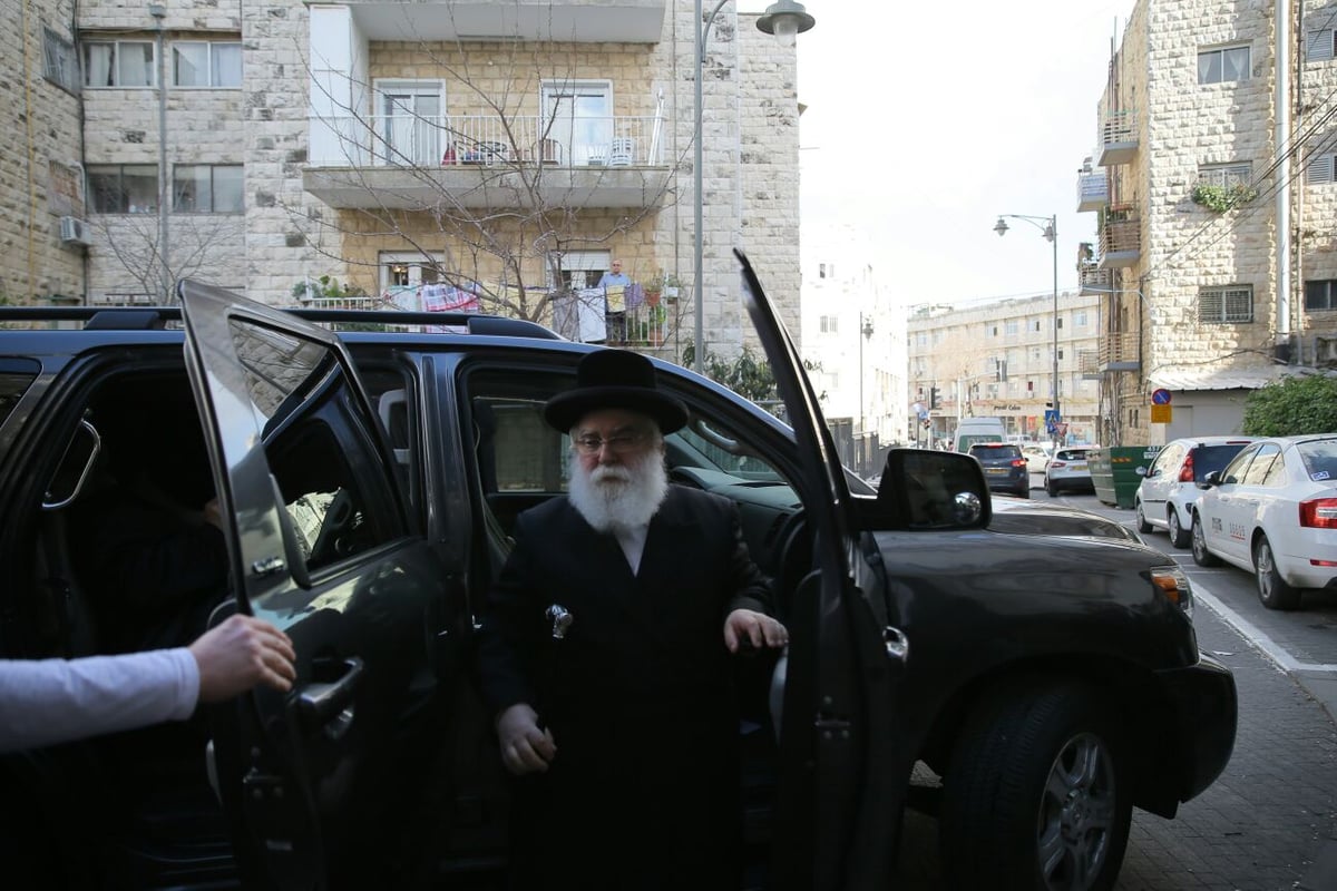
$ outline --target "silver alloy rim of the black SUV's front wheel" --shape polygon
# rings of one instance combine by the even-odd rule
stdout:
[[[1084,891],[1100,876],[1116,815],[1114,759],[1099,736],[1078,733],[1054,764],[1040,797],[1036,850],[1050,891]]]

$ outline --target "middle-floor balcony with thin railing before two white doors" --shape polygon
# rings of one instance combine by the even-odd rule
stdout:
[[[338,208],[660,207],[663,115],[312,118],[302,187]]]

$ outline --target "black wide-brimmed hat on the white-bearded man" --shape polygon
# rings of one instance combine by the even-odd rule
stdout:
[[[687,406],[655,389],[655,366],[639,353],[595,350],[576,366],[576,386],[548,399],[543,418],[567,433],[598,409],[624,409],[654,418],[662,433],[687,423]]]

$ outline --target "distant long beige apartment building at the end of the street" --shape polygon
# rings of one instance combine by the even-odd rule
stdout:
[[[1060,293],[1058,337],[1052,294],[909,307],[909,395],[925,411],[912,419],[912,437],[939,445],[973,415],[1003,418],[1011,435],[1050,438],[1044,411],[1058,343],[1063,438],[1099,442],[1099,305],[1098,297]]]

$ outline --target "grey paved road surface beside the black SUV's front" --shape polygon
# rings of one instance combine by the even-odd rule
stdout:
[[[1094,497],[1063,501],[1132,518]],[[1301,685],[1305,667],[1337,664],[1337,602],[1329,609],[1325,596],[1316,598],[1313,612],[1306,602],[1304,613],[1255,616],[1246,573],[1233,570],[1235,578],[1214,569],[1206,576],[1165,536],[1147,538],[1179,562],[1187,557],[1199,592],[1198,645],[1234,672],[1239,727],[1226,771],[1174,820],[1134,811],[1116,890],[1337,891],[1337,724]],[[1263,637],[1261,648],[1250,633]],[[1317,673],[1320,681],[1333,681],[1333,672]],[[1313,687],[1322,695],[1321,683]],[[1337,708],[1337,699],[1330,707]],[[935,820],[912,816],[908,823],[897,887],[941,887]]]

